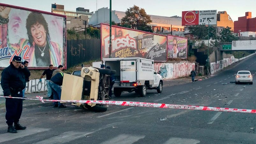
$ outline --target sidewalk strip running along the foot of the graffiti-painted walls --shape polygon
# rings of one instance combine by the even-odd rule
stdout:
[[[197,76],[195,78],[195,80],[203,79],[203,78],[204,78],[204,76],[202,76],[202,77]],[[191,83],[191,82],[192,82],[191,77],[182,77],[179,79],[165,80],[163,83],[163,87]],[[41,96],[41,97],[43,97],[43,99],[48,99],[47,91],[25,94],[25,97],[27,97],[27,98],[36,99],[36,96]],[[42,103],[39,100],[24,100],[23,101],[23,108],[41,107],[41,106],[49,106],[49,105],[53,105],[53,102],[45,101],[45,103]],[[5,98],[4,97],[0,97],[0,111],[5,111]]]

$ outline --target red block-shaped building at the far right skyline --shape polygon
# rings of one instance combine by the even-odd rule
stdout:
[[[245,16],[238,17],[234,22],[234,33],[256,32],[256,18],[252,18],[252,12],[245,12]]]

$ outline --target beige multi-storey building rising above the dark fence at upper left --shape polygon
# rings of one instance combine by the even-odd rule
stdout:
[[[88,25],[89,19],[93,12],[89,9],[78,7],[76,11],[64,10],[64,5],[52,4],[52,13],[62,14],[67,16],[67,29],[79,30]]]

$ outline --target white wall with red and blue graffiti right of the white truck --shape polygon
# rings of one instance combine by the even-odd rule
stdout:
[[[176,79],[179,77],[189,76],[191,70],[195,67],[194,63],[180,62],[180,63],[155,63],[156,71],[161,70],[161,76],[164,80]]]

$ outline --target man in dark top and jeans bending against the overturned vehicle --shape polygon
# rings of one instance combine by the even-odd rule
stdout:
[[[49,80],[49,85],[52,89],[54,100],[61,99],[61,86],[63,82],[63,76],[64,74],[62,72],[59,72]],[[53,107],[66,108],[66,106],[64,106],[60,102],[53,102]]]

